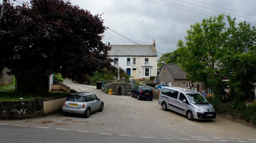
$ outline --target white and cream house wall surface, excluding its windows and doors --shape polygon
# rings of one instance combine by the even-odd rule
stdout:
[[[151,76],[157,76],[157,57],[136,57],[136,56],[110,56],[110,58],[118,58],[118,65],[114,65],[114,62],[112,65],[114,65],[116,68],[122,68],[122,69],[131,69],[131,77],[133,79],[138,78],[149,78],[143,76],[143,67],[142,66],[148,66],[148,68],[151,68]],[[127,65],[127,58],[131,58],[130,65]],[[136,64],[133,65],[133,58],[136,58]],[[148,65],[145,65],[145,58],[148,58]],[[133,69],[136,69],[136,75],[133,75]]]

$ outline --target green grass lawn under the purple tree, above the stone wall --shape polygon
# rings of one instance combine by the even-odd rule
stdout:
[[[14,82],[9,85],[0,87],[0,101],[15,101],[15,100],[29,100],[29,98],[40,97],[49,98],[54,96],[68,95],[69,92],[15,92],[15,78]],[[20,99],[24,98],[24,99]]]

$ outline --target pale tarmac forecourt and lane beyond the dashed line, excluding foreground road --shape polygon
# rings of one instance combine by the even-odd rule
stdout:
[[[0,121],[0,124],[179,142],[256,142],[255,128],[218,115],[212,120],[189,121],[186,116],[176,112],[163,111],[158,100],[109,95],[97,90],[96,86],[75,84],[67,79],[64,83],[79,92],[95,93],[105,103],[103,112],[92,113],[87,119],[78,115],[63,116],[56,113],[34,119]]]

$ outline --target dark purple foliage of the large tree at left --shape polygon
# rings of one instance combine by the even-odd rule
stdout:
[[[5,9],[0,67],[10,69],[9,75],[61,73],[74,79],[112,67],[111,47],[101,41],[106,30],[101,15],[63,0],[31,0]]]

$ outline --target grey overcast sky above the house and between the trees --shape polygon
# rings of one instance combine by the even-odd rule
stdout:
[[[22,2],[22,0],[17,0]],[[25,0],[23,0],[25,1]],[[152,2],[154,1],[154,2]],[[169,3],[166,3],[166,2]],[[203,18],[218,15],[223,12],[235,14],[237,20],[246,20],[256,24],[256,0],[71,0],[73,5],[91,11],[91,14],[104,13],[102,18],[106,26],[127,38],[142,45],[151,45],[152,39],[156,40],[158,59],[160,53],[173,52],[176,50],[176,43],[179,39],[184,41],[186,30],[191,24],[201,22]],[[183,2],[182,2],[183,1]],[[199,2],[202,3],[199,3]],[[184,3],[187,2],[187,3]],[[16,2],[14,2],[16,3]],[[162,3],[162,4],[159,4]],[[174,4],[176,5],[174,5]],[[189,4],[190,3],[190,4]],[[207,3],[210,5],[206,5]],[[165,4],[165,5],[163,5]],[[193,5],[195,4],[195,5]],[[168,6],[170,5],[170,6]],[[182,6],[185,7],[182,7]],[[196,6],[200,5],[200,6]],[[214,6],[218,7],[214,7]],[[173,6],[173,7],[171,7]],[[179,8],[175,8],[179,7]],[[189,8],[187,8],[189,7]],[[207,7],[207,8],[204,8]],[[222,8],[226,9],[222,9]],[[190,9],[193,8],[193,9]],[[208,9],[211,8],[211,9]],[[186,11],[184,9],[190,10]],[[198,10],[201,11],[198,11]],[[216,9],[216,10],[212,10]],[[230,11],[231,9],[234,11]],[[195,11],[197,13],[191,12]],[[206,13],[206,12],[209,13]],[[239,12],[235,12],[239,11]],[[205,15],[202,15],[202,14]],[[213,13],[213,14],[210,14]],[[227,14],[225,13],[225,14]],[[246,14],[243,14],[246,13]],[[234,18],[234,15],[230,15]],[[247,15],[251,14],[251,15]],[[208,16],[206,16],[208,15]],[[243,18],[243,17],[246,18]],[[251,20],[251,19],[255,20]],[[103,42],[110,42],[112,45],[134,45],[135,43],[107,29],[104,33]]]

